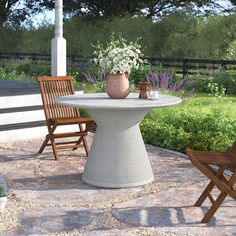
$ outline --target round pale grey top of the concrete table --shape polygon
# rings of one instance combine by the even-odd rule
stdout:
[[[155,108],[176,105],[182,102],[181,98],[170,95],[159,95],[156,100],[139,99],[138,93],[131,93],[125,99],[111,99],[105,93],[88,93],[63,96],[57,99],[57,103],[64,106],[72,106],[87,109],[139,109]]]

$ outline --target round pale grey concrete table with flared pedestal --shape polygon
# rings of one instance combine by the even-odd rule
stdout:
[[[176,105],[181,99],[161,95],[158,100],[143,100],[137,93],[125,99],[81,94],[59,97],[57,103],[85,108],[97,123],[83,181],[99,187],[122,188],[153,181],[139,123],[150,109]]]

